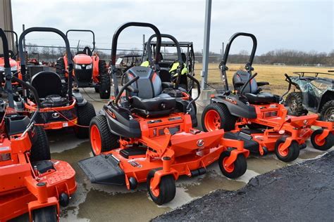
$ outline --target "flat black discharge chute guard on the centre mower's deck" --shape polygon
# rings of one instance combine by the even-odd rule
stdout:
[[[108,185],[125,185],[125,174],[118,160],[113,155],[98,155],[82,159],[78,162],[80,168],[92,183]]]

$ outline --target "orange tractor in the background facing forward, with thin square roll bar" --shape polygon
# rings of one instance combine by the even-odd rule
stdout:
[[[99,58],[97,53],[94,53],[95,49],[95,34],[92,30],[68,30],[69,32],[91,32],[93,35],[93,48],[90,49],[86,46],[83,51],[78,51],[73,58],[74,69],[73,77],[75,77],[75,83],[78,88],[94,88],[99,93],[100,98],[109,99],[111,91],[111,80],[109,73],[107,72],[106,62]],[[56,72],[62,79],[67,78],[67,56],[58,58],[56,63]],[[70,58],[71,59],[71,58]]]

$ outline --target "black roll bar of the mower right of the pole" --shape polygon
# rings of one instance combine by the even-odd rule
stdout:
[[[257,48],[256,37],[254,36],[254,34],[247,33],[247,32],[237,32],[237,33],[233,34],[233,36],[230,37],[230,39],[228,40],[228,44],[226,44],[223,60],[221,60],[221,63],[219,63],[219,66],[218,66],[221,69],[221,72],[223,72],[222,73],[222,75],[223,75],[222,79],[223,79],[223,84],[225,85],[225,91],[228,91],[228,78],[226,77],[226,70],[228,70],[228,67],[226,66],[226,63],[228,62],[228,55],[230,53],[231,44],[233,43],[233,41],[237,37],[240,37],[240,36],[250,37],[253,41],[252,53],[249,55],[249,60],[245,65],[245,69],[249,73],[251,73],[254,70],[253,67],[252,67],[252,64],[253,64],[253,60],[254,60],[254,57],[255,57],[256,48]]]

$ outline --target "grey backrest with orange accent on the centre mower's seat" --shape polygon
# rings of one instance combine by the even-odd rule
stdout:
[[[154,98],[161,94],[161,79],[154,70],[149,67],[135,66],[125,72],[128,81],[135,77],[140,77],[132,84],[132,87],[138,89],[138,93],[129,93],[129,96],[138,96],[140,98]]]

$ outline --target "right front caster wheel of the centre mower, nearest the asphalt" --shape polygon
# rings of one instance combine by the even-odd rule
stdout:
[[[221,153],[218,164],[221,169],[221,173],[228,178],[237,178],[245,174],[247,170],[247,161],[244,155],[237,155],[237,159],[230,166],[226,165],[226,162],[230,157],[230,151],[224,151]]]

